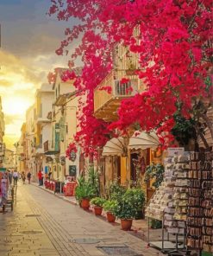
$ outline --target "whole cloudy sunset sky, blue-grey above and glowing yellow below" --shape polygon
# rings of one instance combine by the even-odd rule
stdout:
[[[54,67],[66,67],[67,57],[55,54],[64,29],[73,22],[58,22],[46,15],[50,0],[1,0],[0,95],[5,114],[5,142],[10,147],[21,135],[25,112],[34,93]]]

